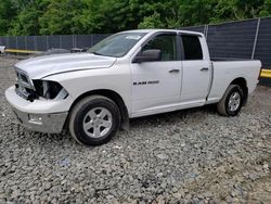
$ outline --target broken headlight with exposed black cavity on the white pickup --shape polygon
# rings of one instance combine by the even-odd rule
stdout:
[[[65,99],[67,91],[55,81],[51,80],[33,80],[36,94],[44,99]]]

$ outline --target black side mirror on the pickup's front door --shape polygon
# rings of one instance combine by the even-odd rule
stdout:
[[[160,50],[152,49],[138,53],[132,63],[160,61]]]

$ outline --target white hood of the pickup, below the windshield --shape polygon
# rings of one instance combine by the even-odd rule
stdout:
[[[31,79],[66,72],[108,68],[116,58],[101,56],[92,53],[67,53],[30,58],[21,61],[15,67],[27,73]]]

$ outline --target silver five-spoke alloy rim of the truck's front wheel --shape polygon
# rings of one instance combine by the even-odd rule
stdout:
[[[83,117],[83,131],[91,138],[101,138],[112,128],[112,114],[105,107],[90,110]]]

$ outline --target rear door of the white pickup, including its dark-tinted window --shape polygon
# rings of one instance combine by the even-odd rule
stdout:
[[[209,56],[202,49],[204,39],[197,35],[180,35],[183,53],[182,103],[204,104],[209,91],[211,68]]]

